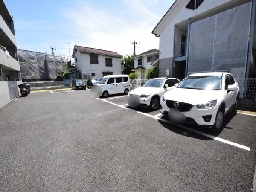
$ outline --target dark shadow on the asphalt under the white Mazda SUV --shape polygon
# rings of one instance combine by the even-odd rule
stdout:
[[[236,113],[229,113],[225,117],[224,122],[223,122],[224,123],[223,124],[224,129],[233,129],[232,127],[227,127],[227,125],[230,123],[230,121],[233,119],[234,116],[236,116]],[[166,117],[161,117],[161,119],[169,120]],[[186,136],[186,137],[194,137],[196,139],[201,139],[201,140],[212,140],[212,138],[205,137],[205,136],[197,134],[195,132],[186,130],[186,129],[181,128],[181,127],[179,127],[177,125],[172,125],[170,123],[163,122],[161,120],[158,120],[158,122],[161,125],[163,125],[163,127],[165,127],[166,129],[169,129],[170,131],[173,131],[173,132],[175,132],[177,134],[180,134],[180,135],[183,135],[183,136]],[[206,133],[206,134],[209,134],[209,135],[212,135],[212,136],[215,136],[215,137],[218,137],[218,135],[221,134],[221,132],[222,132],[222,130],[220,130],[220,131],[212,131],[211,128],[207,128],[207,127],[200,126],[200,125],[187,125],[187,124],[184,124],[184,126],[186,126],[188,128],[195,129],[197,131],[201,131],[203,133]]]

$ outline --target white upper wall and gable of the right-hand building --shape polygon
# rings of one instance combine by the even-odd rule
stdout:
[[[162,25],[155,29],[155,32],[160,32],[159,58],[173,57],[175,24],[187,21],[189,18],[192,18],[192,22],[201,20],[247,2],[250,0],[204,0],[198,9],[192,10],[186,8],[189,0],[180,0],[175,9],[162,21]]]

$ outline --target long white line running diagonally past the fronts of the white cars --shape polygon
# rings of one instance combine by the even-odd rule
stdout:
[[[116,104],[116,103],[113,103],[113,102],[110,102],[110,101],[106,101],[106,99],[100,99],[100,98],[97,98],[97,99],[102,100],[102,101],[104,101],[104,102],[108,102],[108,103],[110,103],[110,104],[112,104],[112,105],[116,105],[117,107],[120,107],[120,108],[123,108],[123,109],[127,109],[127,110],[129,110],[129,111],[133,111],[133,112],[135,112],[135,113],[139,113],[139,114],[142,114],[142,115],[151,117],[151,118],[153,118],[153,119],[157,119],[157,120],[160,120],[160,121],[163,121],[163,122],[167,122],[167,123],[169,123],[169,124],[172,124],[170,121],[168,121],[168,120],[166,120],[166,119],[162,119],[162,118],[157,117],[157,116],[153,116],[153,115],[149,115],[149,114],[147,114],[147,113],[143,113],[143,112],[140,112],[140,111],[136,111],[136,110],[131,109],[131,108],[126,108],[126,107],[124,107],[124,106],[122,106],[122,105],[118,105],[118,104]],[[173,124],[172,124],[172,125],[173,125]],[[213,140],[218,140],[218,141],[220,141],[220,142],[222,142],[222,143],[226,143],[226,144],[233,145],[233,146],[235,146],[235,147],[242,148],[242,149],[244,149],[244,150],[250,151],[250,147],[247,147],[247,146],[244,146],[244,145],[240,145],[240,144],[234,143],[234,142],[232,142],[232,141],[224,140],[224,139],[221,139],[220,137],[215,137],[215,136],[213,136],[213,135],[206,134],[206,133],[204,133],[204,132],[201,132],[201,131],[198,131],[198,130],[195,130],[195,129],[186,127],[186,126],[184,126],[184,125],[175,125],[175,126],[180,127],[180,128],[183,128],[183,129],[186,129],[186,130],[188,130],[188,131],[192,131],[192,132],[197,133],[197,134],[201,134],[201,135],[203,135],[203,136],[205,136],[205,137],[209,137],[209,138],[211,138],[211,139],[213,139]]]

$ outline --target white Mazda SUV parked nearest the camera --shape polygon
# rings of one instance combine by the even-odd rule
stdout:
[[[185,116],[186,123],[210,125],[217,131],[222,128],[224,116],[236,112],[239,86],[230,73],[192,74],[175,87],[163,94],[160,102],[160,112],[171,122],[173,115],[181,119]]]

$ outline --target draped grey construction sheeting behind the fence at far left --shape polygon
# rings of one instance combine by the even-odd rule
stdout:
[[[23,79],[56,79],[68,59],[61,56],[18,50],[20,73]]]

